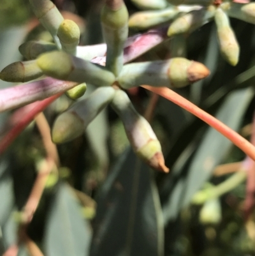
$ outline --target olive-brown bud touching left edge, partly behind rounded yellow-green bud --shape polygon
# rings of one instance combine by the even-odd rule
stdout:
[[[0,79],[7,82],[28,82],[43,75],[36,61],[17,61],[6,66],[0,73]]]

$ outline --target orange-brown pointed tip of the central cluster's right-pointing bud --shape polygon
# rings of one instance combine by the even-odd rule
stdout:
[[[208,75],[210,75],[210,70],[204,64],[197,61],[192,61],[187,70],[187,77],[191,83],[204,79]]]

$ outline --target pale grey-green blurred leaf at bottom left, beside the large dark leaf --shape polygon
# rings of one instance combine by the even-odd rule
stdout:
[[[82,208],[72,195],[71,188],[60,183],[45,225],[45,254],[86,256],[90,242],[91,230],[82,218]]]

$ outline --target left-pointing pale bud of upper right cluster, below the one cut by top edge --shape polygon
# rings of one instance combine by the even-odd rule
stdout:
[[[173,19],[178,13],[179,10],[176,7],[156,11],[138,11],[130,17],[128,25],[134,29],[148,29]]]

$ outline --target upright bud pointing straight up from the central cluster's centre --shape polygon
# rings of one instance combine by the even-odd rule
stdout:
[[[124,43],[128,38],[128,10],[123,0],[108,0],[101,11],[107,45],[106,68],[119,75],[123,66]]]

